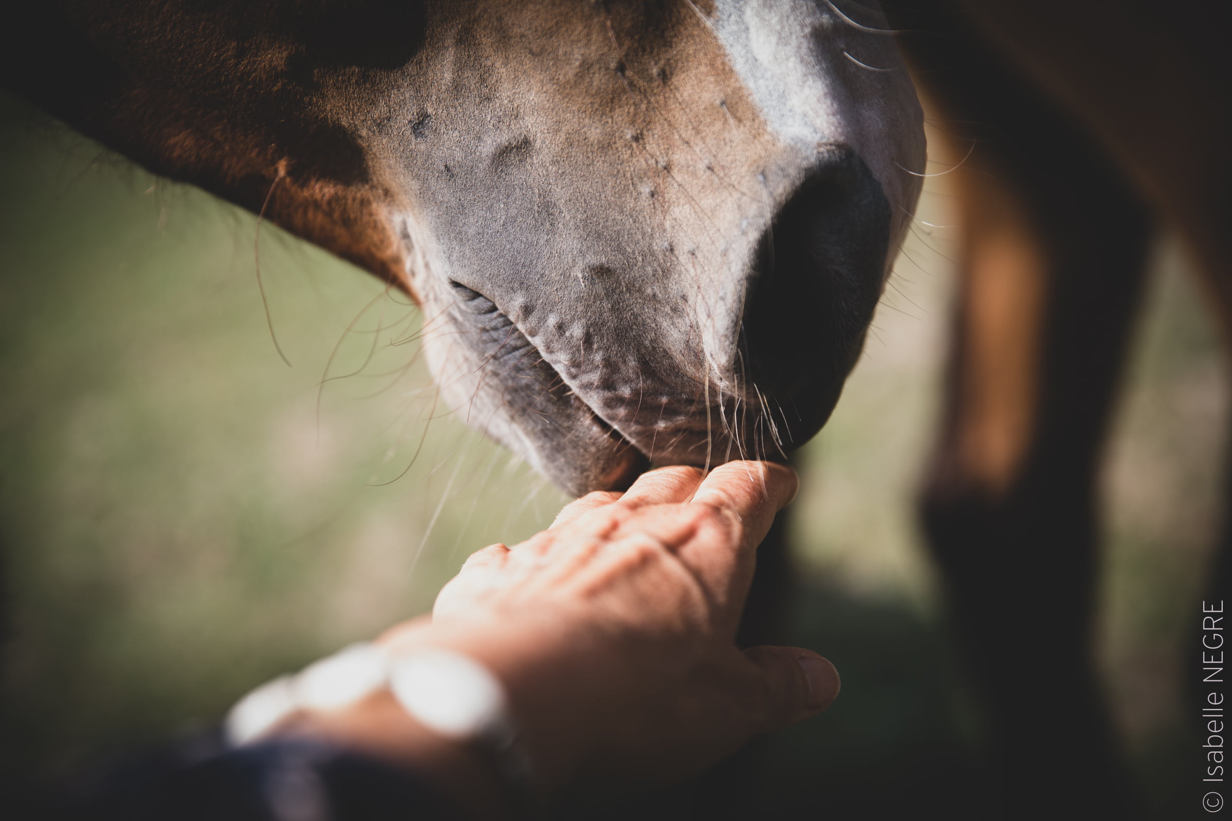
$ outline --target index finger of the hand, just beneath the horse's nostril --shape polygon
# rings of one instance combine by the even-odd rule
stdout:
[[[744,524],[750,544],[765,538],[774,516],[796,496],[800,479],[772,462],[728,462],[715,468],[692,501],[731,511]]]

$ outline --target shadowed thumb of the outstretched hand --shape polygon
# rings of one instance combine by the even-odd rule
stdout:
[[[760,646],[745,650],[744,657],[761,673],[761,732],[817,715],[841,688],[839,671],[812,650]]]

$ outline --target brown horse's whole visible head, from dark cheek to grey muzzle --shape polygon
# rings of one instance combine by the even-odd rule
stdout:
[[[442,398],[583,494],[829,416],[924,170],[866,6],[69,1],[18,91],[405,288]]]

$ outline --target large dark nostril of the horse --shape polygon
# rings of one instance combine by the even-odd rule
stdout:
[[[888,201],[860,156],[823,146],[763,233],[736,372],[782,411],[790,448],[829,417],[881,295]],[[772,411],[771,411],[772,412]]]

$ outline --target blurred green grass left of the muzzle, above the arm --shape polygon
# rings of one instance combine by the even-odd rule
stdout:
[[[429,423],[418,346],[389,345],[418,313],[371,277],[262,228],[288,368],[251,215],[6,113],[11,756],[55,766],[214,720],[254,682],[425,612],[471,550],[564,501],[442,407]],[[326,363],[345,378],[318,417]]]

